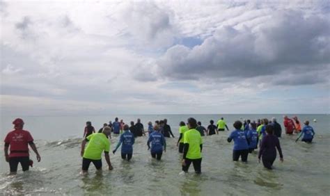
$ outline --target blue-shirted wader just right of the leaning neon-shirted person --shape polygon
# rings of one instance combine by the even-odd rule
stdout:
[[[131,160],[133,155],[133,145],[134,145],[134,135],[133,133],[129,132],[129,126],[128,124],[124,125],[124,133],[121,134],[118,145],[116,146],[116,149],[113,150],[113,154],[116,153],[118,147],[123,143],[121,147],[121,158],[124,160]]]

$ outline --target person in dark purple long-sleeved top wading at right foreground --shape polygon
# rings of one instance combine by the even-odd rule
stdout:
[[[270,124],[266,126],[267,135],[262,139],[260,151],[258,154],[259,163],[260,158],[262,158],[262,164],[269,170],[272,170],[272,165],[276,159],[276,148],[280,154],[280,161],[283,162],[283,154],[280,141],[278,140],[277,136],[273,135],[273,129],[273,126]]]

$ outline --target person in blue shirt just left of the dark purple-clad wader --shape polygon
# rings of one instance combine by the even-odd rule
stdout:
[[[239,156],[241,156],[243,162],[247,162],[249,155],[249,138],[246,131],[241,129],[242,122],[237,120],[233,126],[235,130],[230,133],[227,141],[231,142],[234,140],[234,149],[233,149],[233,161],[238,161]]]

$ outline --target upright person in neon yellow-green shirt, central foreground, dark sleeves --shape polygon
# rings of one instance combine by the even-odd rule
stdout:
[[[196,130],[196,127],[197,121],[193,117],[189,117],[189,131],[184,133],[182,171],[188,172],[192,162],[196,174],[201,174],[203,140],[201,133]]]

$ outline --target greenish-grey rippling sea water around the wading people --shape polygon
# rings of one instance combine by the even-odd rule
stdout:
[[[125,122],[141,117],[143,124],[166,117],[178,136],[178,123],[190,115],[125,115]],[[191,115],[207,126],[221,115]],[[273,115],[223,115],[230,125],[240,117],[255,120]],[[275,115],[281,119],[282,115]],[[95,172],[91,164],[86,176],[81,168],[80,144],[84,122],[91,120],[95,129],[114,117],[24,117],[26,129],[36,139],[42,156],[29,172],[8,175],[8,163],[1,151],[0,194],[41,195],[329,195],[329,115],[298,115],[301,120],[317,119],[312,123],[317,135],[308,145],[295,143],[297,136],[283,136],[281,146],[284,163],[276,159],[274,170],[268,171],[258,163],[257,155],[250,154],[248,163],[233,163],[233,143],[228,143],[228,131],[219,136],[207,136],[203,145],[202,174],[180,174],[180,154],[177,138],[166,140],[168,147],[162,161],[150,158],[146,137],[136,139],[132,161],[120,158],[120,151],[111,154],[113,171]],[[14,117],[1,117],[1,138],[11,129]],[[120,116],[119,116],[120,118]],[[8,131],[3,131],[8,130]],[[111,139],[111,148],[118,138]],[[35,155],[31,158],[36,162]],[[103,159],[104,160],[104,159]],[[103,161],[106,166],[107,163]],[[104,167],[105,168],[105,167]],[[19,167],[20,170],[20,167]]]

